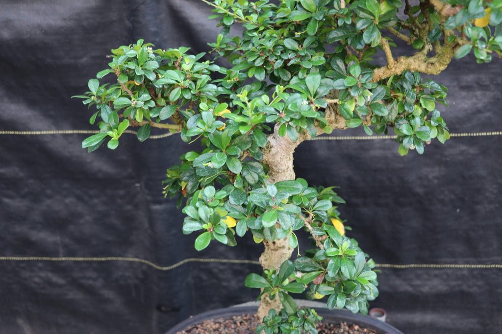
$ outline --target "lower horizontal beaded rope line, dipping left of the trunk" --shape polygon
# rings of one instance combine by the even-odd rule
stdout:
[[[122,262],[137,262],[149,265],[157,270],[168,271],[175,269],[189,262],[216,262],[216,263],[233,263],[233,264],[256,264],[260,265],[259,261],[254,260],[236,260],[236,259],[215,259],[215,258],[187,258],[173,265],[163,267],[145,259],[137,257],[49,257],[49,256],[0,256],[0,261],[51,261],[51,262],[107,262],[107,261],[122,261]],[[378,268],[393,268],[393,269],[410,269],[410,268],[450,268],[450,269],[502,269],[502,264],[391,264],[378,263]]]

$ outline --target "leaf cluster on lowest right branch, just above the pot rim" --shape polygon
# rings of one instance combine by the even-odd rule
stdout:
[[[294,268],[291,261],[285,261],[278,273],[267,270],[263,275],[249,274],[245,285],[262,288],[262,294],[268,293],[272,299],[279,296],[289,313],[297,308],[288,293],[301,293],[310,284],[309,298],[329,295],[328,308],[345,307],[354,313],[360,311],[366,314],[368,301],[379,294],[376,272],[372,270],[374,262],[366,261],[357,242],[340,235],[330,224],[316,227],[314,234],[324,239],[322,249],[310,252],[311,257],[297,258]]]

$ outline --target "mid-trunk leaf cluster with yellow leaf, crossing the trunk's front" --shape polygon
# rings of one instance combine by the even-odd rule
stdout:
[[[192,155],[191,158],[196,156],[193,162],[197,166],[201,165],[197,159],[203,154],[189,155]],[[204,157],[204,161],[208,160],[207,163],[212,165],[212,157]],[[246,173],[254,172],[248,170],[244,173],[244,177],[239,179],[240,181],[237,180],[239,174],[234,178],[233,184],[228,174],[218,175],[215,178],[214,174],[209,174],[209,177],[205,175],[198,177],[196,171],[198,167],[194,171],[188,164],[183,165],[182,169],[185,170],[183,173],[180,173],[178,168],[168,171],[168,177],[171,177],[168,179],[170,185],[168,189],[181,186],[187,194],[193,194],[188,196],[187,205],[183,208],[183,213],[187,215],[183,223],[183,232],[190,234],[202,231],[195,241],[196,249],[204,249],[214,239],[234,246],[235,234],[243,237],[247,231],[252,232],[257,242],[288,238],[290,246],[294,248],[298,246],[295,231],[304,227],[302,217],[310,216],[316,222],[328,222],[330,217],[338,217],[336,207],[333,207],[332,203],[344,203],[344,201],[333,192],[332,187],[318,192],[315,188],[308,187],[304,179],[267,184],[261,164],[256,161],[244,161],[242,164],[255,166],[256,173],[251,176]],[[209,167],[209,171],[213,167],[213,165]],[[204,172],[206,169],[201,167],[201,171]],[[255,177],[257,180],[254,180]],[[222,186],[218,191],[212,185],[207,185],[216,182],[221,182]],[[207,186],[199,189],[201,184]],[[177,191],[172,192],[176,193]],[[166,194],[169,194],[169,191]],[[222,235],[226,235],[226,238]],[[200,242],[201,240],[203,242]]]

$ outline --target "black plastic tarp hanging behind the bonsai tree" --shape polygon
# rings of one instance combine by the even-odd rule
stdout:
[[[70,96],[106,67],[109,49],[144,38],[206,51],[219,31],[197,0],[0,2],[0,131],[94,129]],[[399,52],[398,52],[399,53]],[[502,129],[500,61],[455,61],[451,132]],[[351,134],[354,132],[350,132]],[[360,134],[361,132],[356,132]],[[347,132],[333,133],[347,135]],[[160,182],[187,144],[178,137],[116,151],[80,148],[85,134],[0,135],[0,255],[124,256],[167,266],[189,257],[256,260],[261,246],[193,249]],[[378,263],[502,263],[501,136],[437,141],[400,157],[393,140],[303,143],[298,177],[337,185],[340,208]],[[0,261],[0,333],[162,333],[201,311],[255,298],[256,265]],[[502,332],[502,270],[383,268],[380,297],[405,333]]]

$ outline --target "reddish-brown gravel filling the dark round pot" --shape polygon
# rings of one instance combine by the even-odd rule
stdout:
[[[256,315],[242,314],[228,319],[206,320],[177,334],[255,334],[255,328],[260,323]],[[356,324],[320,323],[317,326],[319,334],[378,334],[376,331],[360,327]]]

